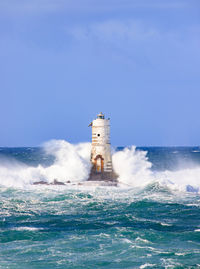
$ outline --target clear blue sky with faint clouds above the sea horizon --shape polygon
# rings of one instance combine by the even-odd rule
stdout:
[[[0,146],[200,145],[199,0],[0,0]]]

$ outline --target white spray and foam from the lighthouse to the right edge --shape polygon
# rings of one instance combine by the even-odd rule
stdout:
[[[125,148],[113,154],[113,166],[119,175],[120,183],[132,187],[144,187],[158,183],[173,191],[198,193],[200,190],[200,167],[177,171],[152,172],[147,152],[136,147]]]

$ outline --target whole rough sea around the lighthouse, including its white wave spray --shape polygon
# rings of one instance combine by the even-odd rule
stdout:
[[[0,148],[0,268],[200,268],[200,148],[112,154],[119,186],[95,187],[90,143]]]

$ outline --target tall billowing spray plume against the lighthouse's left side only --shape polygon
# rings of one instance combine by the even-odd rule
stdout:
[[[90,173],[90,143],[70,144],[64,140],[53,140],[44,144],[47,154],[55,157],[55,162],[43,170],[49,181],[80,182],[87,180]]]

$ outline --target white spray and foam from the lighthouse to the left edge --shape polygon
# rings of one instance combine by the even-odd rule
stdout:
[[[7,187],[24,187],[34,182],[52,183],[80,182],[87,180],[90,172],[90,143],[70,144],[64,140],[46,142],[43,150],[52,155],[54,162],[45,167],[32,167],[14,159],[0,162],[0,185]]]

